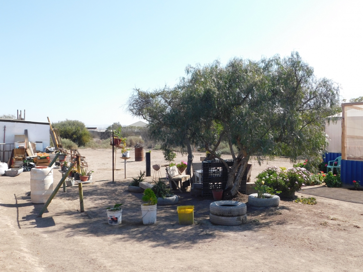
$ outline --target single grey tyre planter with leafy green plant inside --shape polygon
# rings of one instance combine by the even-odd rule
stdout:
[[[280,197],[275,195],[275,189],[265,185],[265,181],[256,181],[253,189],[257,190],[257,194],[248,196],[248,204],[257,207],[275,207],[280,204]],[[276,191],[281,193],[281,191]]]

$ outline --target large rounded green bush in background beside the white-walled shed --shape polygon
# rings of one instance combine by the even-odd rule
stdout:
[[[85,124],[81,121],[66,119],[65,121],[52,123],[52,127],[59,129],[62,139],[69,139],[78,146],[84,146],[92,138]]]

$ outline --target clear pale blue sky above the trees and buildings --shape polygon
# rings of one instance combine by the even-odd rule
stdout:
[[[132,2],[132,3],[130,3]],[[186,65],[297,50],[318,77],[363,95],[363,1],[0,1],[0,115],[106,126],[132,88]]]

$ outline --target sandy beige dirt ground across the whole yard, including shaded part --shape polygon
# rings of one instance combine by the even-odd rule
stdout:
[[[195,206],[195,224],[180,226],[174,205],[158,206],[157,223],[144,226],[142,194],[127,191],[131,178],[123,179],[123,160],[118,158],[121,170],[112,182],[110,149],[80,152],[95,171],[93,184],[83,187],[88,215],[78,211],[74,186],[61,189],[37,218],[43,205],[28,196],[30,172],[0,177],[0,271],[363,271],[363,204],[318,196],[317,205],[282,199],[279,207],[248,206],[248,222],[227,227],[210,223],[213,199],[176,191],[178,205]],[[196,161],[200,156],[195,154]],[[130,177],[145,170],[145,162],[131,157]],[[186,156],[178,154],[180,160]],[[166,164],[160,151],[152,151],[151,163]],[[287,158],[252,163],[252,177],[267,163],[291,166]],[[53,171],[57,184],[61,174]],[[123,203],[122,224],[109,226],[105,208],[116,202]]]

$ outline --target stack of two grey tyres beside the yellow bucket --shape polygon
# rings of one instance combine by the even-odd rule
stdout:
[[[247,206],[238,201],[215,201],[209,205],[209,220],[216,225],[238,226],[247,222]]]

